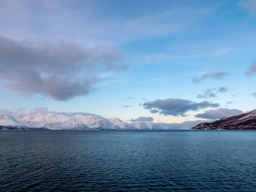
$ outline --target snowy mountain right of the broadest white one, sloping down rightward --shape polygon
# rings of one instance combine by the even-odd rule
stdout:
[[[83,116],[75,115],[73,119],[76,119],[79,122],[83,122],[90,129],[99,129],[99,130],[121,130],[121,128],[113,123],[109,122],[108,119],[99,119],[96,116]]]

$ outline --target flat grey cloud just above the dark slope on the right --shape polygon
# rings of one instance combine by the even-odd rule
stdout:
[[[215,110],[208,110],[204,111],[204,113],[198,113],[195,117],[203,118],[203,119],[221,119],[227,116],[234,116],[243,113],[238,109],[227,109],[227,108],[220,108]]]

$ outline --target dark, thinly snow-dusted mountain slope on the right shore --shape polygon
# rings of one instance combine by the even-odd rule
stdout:
[[[256,110],[224,117],[215,122],[200,123],[190,130],[256,130]]]

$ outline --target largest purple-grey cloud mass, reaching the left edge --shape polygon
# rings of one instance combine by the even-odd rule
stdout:
[[[108,47],[87,49],[74,43],[18,42],[0,35],[1,86],[20,96],[58,101],[93,90],[103,71],[125,70],[122,53]]]

